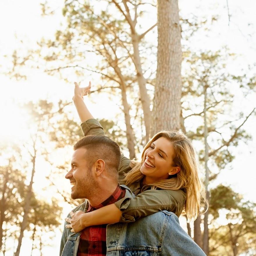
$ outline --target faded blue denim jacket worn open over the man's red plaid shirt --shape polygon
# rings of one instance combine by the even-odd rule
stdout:
[[[126,194],[123,199],[129,201],[128,198],[134,195],[124,187]],[[87,209],[86,201],[73,211],[86,212]],[[60,256],[77,255],[80,234],[72,233],[64,226]],[[108,224],[106,237],[107,256],[206,256],[180,227],[178,217],[165,210],[131,223]]]

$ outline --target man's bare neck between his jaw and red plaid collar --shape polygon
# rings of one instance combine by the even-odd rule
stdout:
[[[88,198],[88,202],[92,207],[95,207],[106,199],[108,199],[116,190],[118,184],[109,184],[109,186],[101,186],[100,189],[95,190],[93,195]]]

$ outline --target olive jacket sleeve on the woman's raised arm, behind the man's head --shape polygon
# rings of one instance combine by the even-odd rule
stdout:
[[[81,128],[84,136],[87,135],[105,135],[104,129],[96,119],[89,119],[86,122],[81,124]],[[119,182],[123,184],[122,179],[124,178],[124,173],[129,172],[130,168],[130,159],[121,154],[121,163],[118,168],[119,173]]]

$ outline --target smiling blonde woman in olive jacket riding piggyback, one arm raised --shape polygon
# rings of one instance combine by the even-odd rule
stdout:
[[[103,128],[83,102],[90,87],[91,83],[86,88],[75,83],[73,101],[84,135],[103,135]],[[79,232],[92,225],[135,221],[162,210],[172,211],[178,217],[183,212],[191,221],[198,215],[201,198],[205,199],[198,170],[191,140],[179,131],[161,131],[147,143],[140,162],[121,158],[119,183],[129,186],[136,197],[90,213],[71,213],[72,219],[67,219],[71,224],[66,227]]]

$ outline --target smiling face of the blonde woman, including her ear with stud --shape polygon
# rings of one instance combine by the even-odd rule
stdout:
[[[177,173],[180,168],[173,167],[175,151],[172,143],[164,137],[158,138],[145,150],[141,173],[146,177],[143,182],[150,184]],[[170,174],[169,174],[170,173]]]

